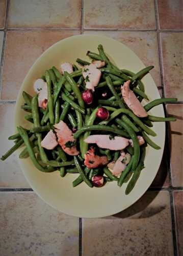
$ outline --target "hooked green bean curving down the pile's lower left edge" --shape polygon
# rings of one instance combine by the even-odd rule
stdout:
[[[29,137],[28,137],[28,134],[27,132],[21,127],[17,127],[17,130],[22,138],[22,140],[24,141],[25,143],[25,146],[27,147],[27,150],[29,152],[29,156],[33,162],[33,164],[35,165],[35,167],[37,169],[39,169],[41,172],[54,172],[55,169],[53,167],[43,167],[42,165],[39,164],[39,162],[37,161],[36,159],[36,156],[34,154],[34,151],[33,151],[33,148],[31,146],[31,143],[30,143],[30,140],[29,140]]]

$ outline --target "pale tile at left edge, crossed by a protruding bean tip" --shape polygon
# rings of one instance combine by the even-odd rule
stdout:
[[[0,157],[14,145],[12,140],[8,140],[14,134],[14,109],[15,104],[0,104]],[[0,169],[0,187],[30,187],[21,172],[16,153],[4,161],[0,160]]]

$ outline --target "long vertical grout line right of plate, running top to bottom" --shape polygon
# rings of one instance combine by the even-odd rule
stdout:
[[[162,87],[162,96],[165,97],[165,84],[164,84],[164,77],[163,77],[163,54],[162,54],[162,45],[160,40],[160,23],[159,23],[159,12],[158,12],[158,2],[154,0],[154,7],[155,7],[155,19],[156,19],[156,27],[157,27],[157,36],[158,36],[158,51],[159,51],[159,62],[160,62],[160,77],[161,77],[161,87]],[[164,105],[165,116],[167,116],[166,105]],[[168,125],[166,124],[166,140],[169,144],[169,129]],[[177,255],[177,238],[176,238],[176,226],[175,226],[175,215],[174,215],[174,208],[173,208],[173,187],[172,187],[172,178],[171,178],[171,167],[170,167],[170,150],[169,146],[166,147],[167,153],[167,166],[168,166],[168,176],[169,176],[169,184],[172,190],[169,191],[170,196],[170,212],[171,212],[171,226],[172,226],[172,240],[173,240],[173,250],[174,255]]]

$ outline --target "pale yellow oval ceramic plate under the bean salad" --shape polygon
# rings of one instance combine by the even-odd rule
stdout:
[[[15,129],[17,125],[29,127],[29,123],[23,118],[25,112],[20,109],[20,105],[24,103],[22,91],[34,95],[33,83],[44,74],[46,69],[52,66],[59,68],[60,64],[65,61],[75,63],[76,58],[87,60],[86,52],[88,50],[97,52],[99,44],[103,45],[110,59],[121,69],[138,72],[145,67],[132,50],[109,37],[77,35],[61,40],[37,59],[25,77],[16,102]],[[150,74],[143,78],[143,82],[150,101],[160,98],[159,91]],[[164,117],[163,106],[156,106],[150,113]],[[158,172],[164,150],[165,123],[155,122],[153,130],[157,133],[157,136],[153,137],[153,141],[161,146],[161,150],[147,147],[145,168],[142,170],[136,186],[127,196],[124,193],[126,184],[120,188],[116,182],[108,182],[101,188],[89,188],[83,182],[73,188],[72,181],[78,176],[77,174],[61,178],[59,172],[41,173],[29,158],[19,160],[20,166],[25,178],[38,196],[64,214],[86,218],[113,215],[135,203],[148,189]]]

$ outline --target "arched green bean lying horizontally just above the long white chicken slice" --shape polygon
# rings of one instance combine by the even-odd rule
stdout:
[[[108,125],[88,125],[88,126],[83,126],[80,130],[77,130],[77,132],[74,133],[74,139],[77,139],[82,133],[89,132],[89,131],[105,131],[105,132],[115,133],[120,136],[125,136],[127,138],[129,137],[126,132],[121,131],[119,129],[114,129],[113,127],[110,127]]]

